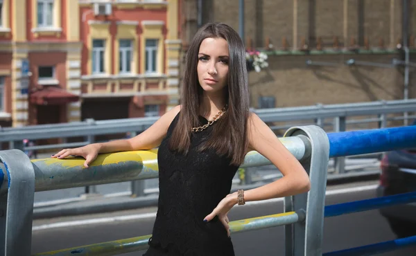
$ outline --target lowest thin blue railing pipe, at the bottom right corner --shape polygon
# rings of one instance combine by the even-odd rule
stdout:
[[[356,248],[348,248],[345,250],[337,250],[331,253],[324,253],[322,256],[368,256],[379,253],[387,253],[392,250],[414,246],[416,244],[416,236],[395,239],[391,241],[383,241],[379,244],[370,244]]]

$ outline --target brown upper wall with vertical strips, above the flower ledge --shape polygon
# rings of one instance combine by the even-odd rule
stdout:
[[[416,36],[416,1],[409,1],[410,35]],[[188,6],[187,6],[188,5]],[[196,1],[185,1],[184,13],[196,15]],[[239,1],[204,0],[203,22],[220,21],[239,30]],[[401,1],[395,0],[245,0],[245,39],[250,37],[257,48],[265,38],[279,49],[286,39],[288,46],[300,46],[302,38],[315,46],[321,37],[332,45],[338,36],[340,44],[349,45],[354,38],[363,46],[395,46],[401,38]],[[295,17],[297,17],[295,19]],[[196,19],[196,17],[193,17]],[[188,30],[188,38],[193,35]]]

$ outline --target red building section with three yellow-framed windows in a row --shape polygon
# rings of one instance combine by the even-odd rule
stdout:
[[[80,1],[81,117],[159,116],[179,84],[180,1]]]

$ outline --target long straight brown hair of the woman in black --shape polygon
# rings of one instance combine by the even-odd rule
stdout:
[[[232,158],[232,164],[241,165],[248,148],[248,73],[243,42],[236,31],[226,24],[205,24],[197,31],[189,45],[180,93],[182,108],[169,147],[187,154],[191,145],[191,127],[200,125],[198,109],[202,103],[200,96],[203,89],[198,82],[198,52],[200,44],[207,37],[223,38],[228,44],[228,77],[224,87],[225,103],[228,104],[228,108],[214,123],[209,140],[198,150],[215,149],[217,154]]]

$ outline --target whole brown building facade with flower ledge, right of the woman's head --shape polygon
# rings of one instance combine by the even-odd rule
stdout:
[[[390,65],[394,59],[404,60],[403,1],[244,3],[245,46],[248,51],[266,53],[269,63],[261,72],[249,73],[252,107],[404,98],[404,66]],[[239,1],[184,0],[182,8],[184,46],[198,26],[206,22],[224,22],[239,31]],[[410,62],[416,62],[415,13],[416,1],[408,0]],[[347,65],[350,59],[356,64]],[[370,65],[360,65],[358,61]],[[415,84],[415,68],[410,68],[408,98],[416,98]]]

